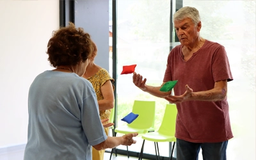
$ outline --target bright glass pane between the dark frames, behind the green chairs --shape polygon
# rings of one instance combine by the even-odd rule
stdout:
[[[124,65],[136,64],[135,71],[147,78],[147,84],[163,83],[166,58],[170,52],[170,1],[117,1],[117,79],[118,126],[132,111],[134,100],[155,100],[158,129],[167,101],[142,92],[132,83],[132,74],[120,75]],[[159,10],[161,8],[161,10]],[[140,152],[142,139],[129,150]],[[154,154],[154,143],[145,142],[143,153]],[[163,146],[162,146],[163,145]],[[169,143],[159,143],[161,156],[168,155]],[[126,150],[126,147],[119,147]]]

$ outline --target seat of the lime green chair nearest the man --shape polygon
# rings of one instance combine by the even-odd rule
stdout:
[[[144,140],[157,141],[157,142],[176,141],[175,136],[167,136],[159,132],[147,132],[143,134],[141,138],[143,138]]]

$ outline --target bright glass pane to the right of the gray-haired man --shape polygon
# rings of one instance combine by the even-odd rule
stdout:
[[[255,1],[183,2],[199,10],[200,35],[227,51],[234,77],[228,83],[234,138],[228,141],[227,159],[255,159]]]

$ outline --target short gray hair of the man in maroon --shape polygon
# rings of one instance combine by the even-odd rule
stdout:
[[[200,20],[201,20],[198,10],[196,10],[196,8],[191,7],[191,6],[184,6],[184,7],[180,8],[173,15],[173,21],[174,20],[183,20],[186,18],[191,19],[195,25],[197,25],[198,22],[200,22]]]

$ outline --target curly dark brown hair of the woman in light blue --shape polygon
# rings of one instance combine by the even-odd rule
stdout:
[[[48,60],[52,67],[77,65],[87,60],[92,53],[92,45],[90,35],[70,22],[69,26],[52,33],[47,45]]]

